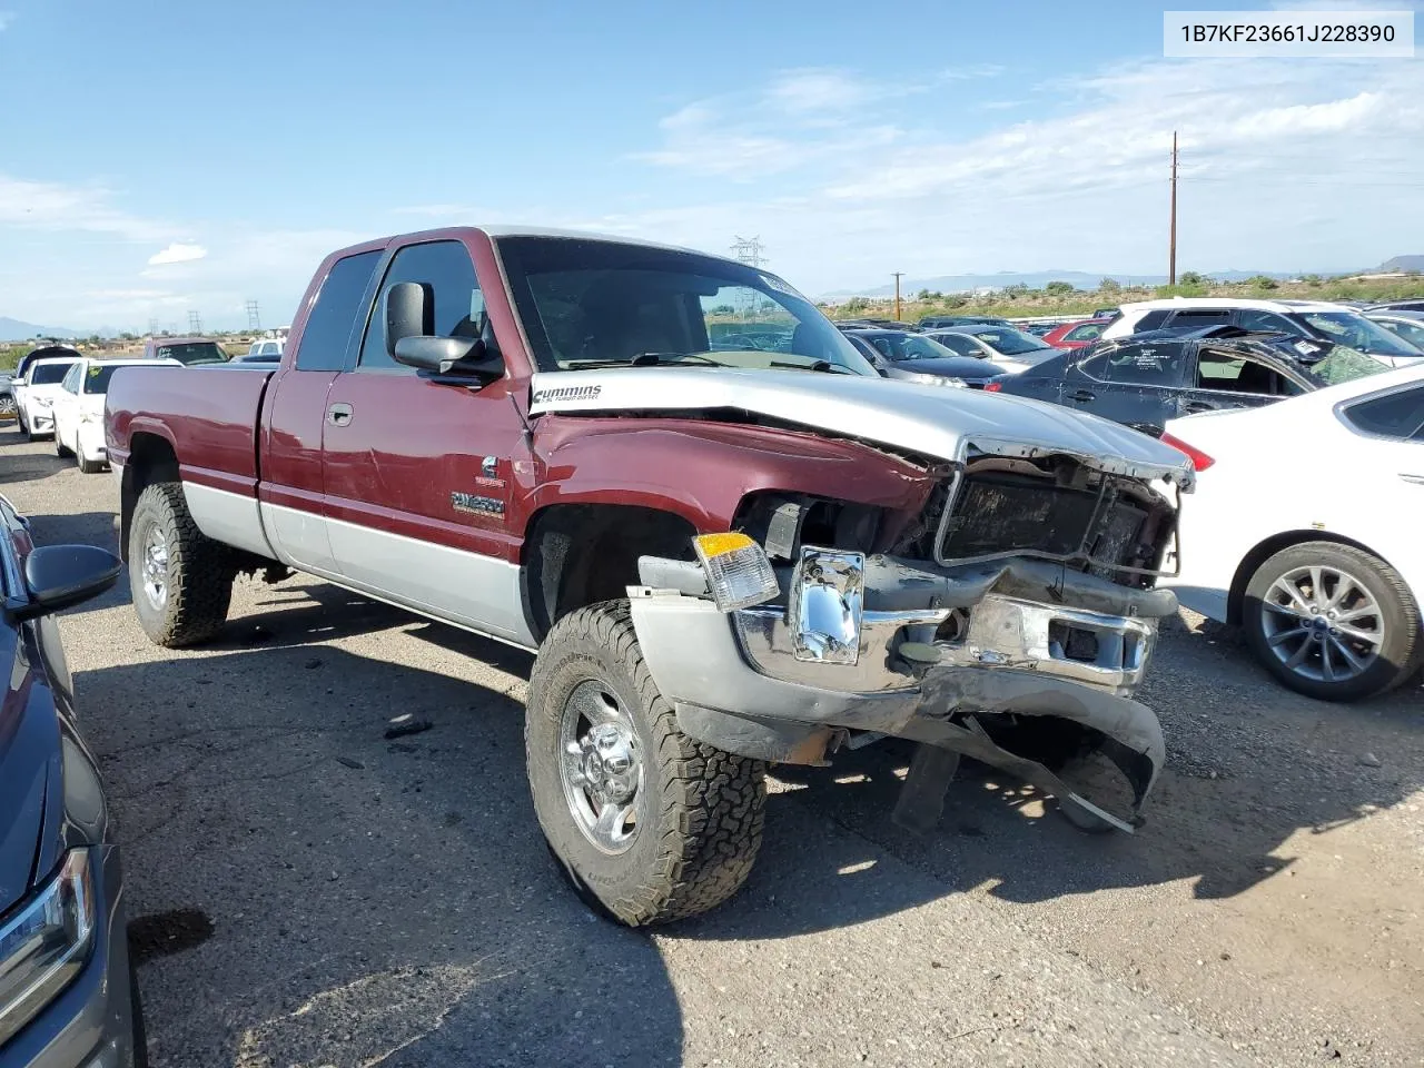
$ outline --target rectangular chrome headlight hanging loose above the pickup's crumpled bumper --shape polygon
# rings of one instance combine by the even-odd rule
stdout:
[[[796,659],[854,664],[864,592],[864,553],[803,547],[787,607]]]

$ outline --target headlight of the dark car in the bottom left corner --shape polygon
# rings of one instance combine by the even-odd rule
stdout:
[[[94,909],[90,852],[75,849],[38,894],[0,918],[0,1047],[84,968]]]

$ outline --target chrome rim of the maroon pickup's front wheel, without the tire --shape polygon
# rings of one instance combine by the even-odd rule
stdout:
[[[578,684],[558,729],[564,800],[578,829],[604,853],[627,852],[644,810],[638,733],[618,695],[601,682]]]

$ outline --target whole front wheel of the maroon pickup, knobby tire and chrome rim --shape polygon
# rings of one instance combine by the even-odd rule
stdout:
[[[525,715],[530,792],[560,867],[629,927],[735,894],[762,844],[766,765],[688,738],[654,685],[627,601],[560,619]]]

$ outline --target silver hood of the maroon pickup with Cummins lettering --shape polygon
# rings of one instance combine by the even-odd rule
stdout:
[[[1182,453],[1118,423],[1022,397],[896,379],[618,367],[538,373],[531,392],[531,414],[733,409],[940,460],[963,460],[971,449],[1017,457],[1068,454],[1101,471],[1166,478],[1183,488],[1193,478]]]

